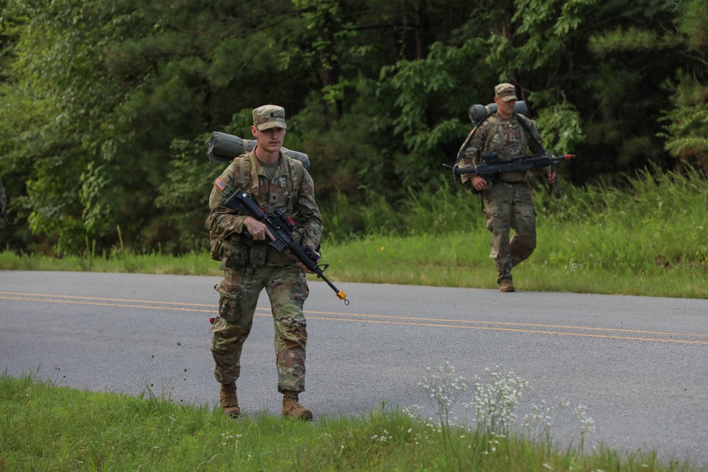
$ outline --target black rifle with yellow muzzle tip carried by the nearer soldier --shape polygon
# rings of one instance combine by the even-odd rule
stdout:
[[[256,202],[251,200],[251,197],[246,195],[243,189],[237,188],[227,200],[224,201],[223,205],[225,207],[235,209],[236,211],[246,213],[249,217],[255,218],[261,223],[265,224],[268,228],[270,234],[275,236],[274,241],[268,241],[270,246],[273,246],[278,251],[282,251],[287,248],[290,252],[295,255],[297,260],[304,265],[307,270],[313,272],[317,277],[327,282],[327,284],[332,287],[334,293],[337,295],[338,299],[344,300],[344,304],[348,305],[349,300],[347,299],[347,294],[342,290],[337,289],[332,282],[324,275],[324,271],[329,267],[329,264],[318,265],[317,260],[320,255],[314,251],[313,248],[306,246],[300,246],[295,239],[290,236],[290,233],[299,227],[299,225],[290,218],[282,210],[275,210],[271,214],[266,214],[261,207],[259,207]],[[244,234],[250,236],[248,231],[244,231]]]

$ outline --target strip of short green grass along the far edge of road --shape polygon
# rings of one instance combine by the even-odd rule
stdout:
[[[584,232],[583,232],[584,231]],[[559,237],[558,235],[563,235]],[[593,229],[539,219],[539,248],[516,267],[518,289],[539,292],[643,295],[707,299],[706,261],[656,262],[657,253],[617,258],[603,263],[593,254],[603,242],[588,238]],[[583,241],[584,239],[584,241]],[[641,239],[639,240],[641,241]],[[333,282],[416,284],[443,287],[496,288],[486,229],[444,235],[375,235],[324,246],[325,275]],[[681,241],[677,241],[680,243]],[[577,252],[572,247],[578,247]],[[582,247],[581,246],[585,246]],[[612,246],[633,251],[631,236],[617,236]],[[178,257],[161,254],[121,258],[81,256],[62,259],[42,255],[0,253],[1,270],[64,270],[219,276],[219,263],[207,253]],[[316,280],[314,275],[309,276]]]

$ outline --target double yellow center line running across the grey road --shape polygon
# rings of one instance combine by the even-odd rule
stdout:
[[[3,297],[2,295],[6,295]],[[12,297],[9,297],[11,295]],[[50,295],[50,294],[30,294],[21,292],[0,292],[0,299],[18,300],[18,301],[45,301],[51,303],[63,304],[78,304],[78,305],[97,305],[97,306],[116,306],[122,308],[134,309],[152,309],[152,310],[174,310],[174,311],[190,311],[194,313],[217,313],[217,308],[211,304],[188,304],[176,301],[151,301],[151,300],[133,300],[133,299],[113,299],[100,297],[78,297],[72,295]],[[107,303],[107,302],[117,303]],[[122,302],[122,303],[121,303]],[[157,306],[149,306],[157,305]],[[188,306],[204,307],[198,308],[183,308]],[[271,316],[270,309],[257,308],[258,316]],[[265,312],[265,313],[263,313]],[[508,331],[513,333],[536,333],[549,335],[566,335],[566,336],[582,336],[586,338],[607,338],[620,340],[641,340],[654,341],[661,343],[683,343],[683,344],[702,344],[708,345],[708,341],[701,340],[678,340],[678,339],[660,339],[660,338],[639,338],[634,336],[620,335],[603,335],[589,333],[569,333],[563,331],[552,331],[542,329],[523,329],[523,328],[506,328],[506,326],[527,326],[530,328],[549,328],[555,330],[582,330],[582,331],[603,331],[612,333],[634,333],[639,335],[663,335],[663,336],[683,336],[693,338],[705,338],[706,334],[687,334],[687,333],[664,333],[661,331],[646,331],[646,330],[625,330],[614,328],[590,328],[586,326],[564,326],[564,325],[546,325],[537,323],[511,323],[506,321],[472,321],[472,320],[454,320],[446,318],[419,318],[415,316],[392,316],[392,315],[372,315],[363,313],[339,313],[328,311],[305,311],[309,319],[321,321],[346,321],[348,323],[365,322],[365,323],[380,323],[391,325],[405,326],[430,326],[435,328],[462,328],[462,329],[477,329],[491,331]],[[326,316],[317,316],[326,315]]]

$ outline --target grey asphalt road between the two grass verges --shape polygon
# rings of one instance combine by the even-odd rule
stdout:
[[[0,372],[95,391],[215,405],[209,318],[217,277],[0,271]],[[529,382],[519,416],[562,398],[586,405],[586,444],[657,449],[708,466],[708,301],[311,282],[307,391],[321,415],[386,402],[428,415],[421,381],[450,362],[472,399],[486,368]],[[244,347],[239,403],[280,413],[273,325],[261,297]],[[573,420],[552,427],[557,440]],[[557,428],[557,429],[554,429]]]

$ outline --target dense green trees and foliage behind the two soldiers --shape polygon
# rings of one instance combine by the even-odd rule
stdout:
[[[0,0],[0,175],[11,249],[206,246],[212,131],[283,105],[326,224],[428,192],[467,109],[511,81],[561,175],[708,168],[702,0]]]

